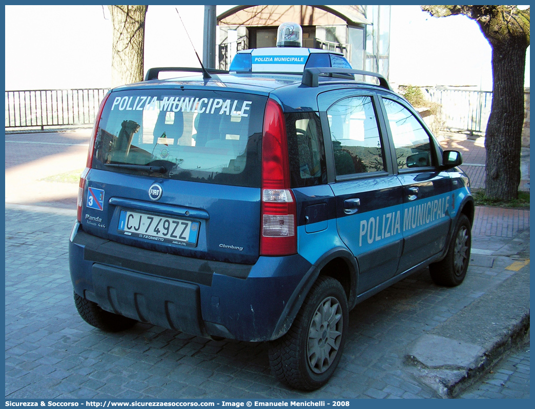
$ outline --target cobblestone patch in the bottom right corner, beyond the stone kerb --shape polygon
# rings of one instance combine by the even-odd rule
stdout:
[[[476,385],[461,394],[463,399],[529,399],[530,343],[511,351]]]

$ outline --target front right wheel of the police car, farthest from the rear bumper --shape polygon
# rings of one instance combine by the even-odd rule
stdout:
[[[457,220],[448,253],[443,260],[429,266],[431,279],[438,285],[455,287],[467,275],[472,244],[471,226],[468,217],[461,214]]]

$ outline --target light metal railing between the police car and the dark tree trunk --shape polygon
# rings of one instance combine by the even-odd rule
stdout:
[[[444,127],[455,131],[485,133],[491,114],[492,92],[424,88],[431,102],[441,105]]]

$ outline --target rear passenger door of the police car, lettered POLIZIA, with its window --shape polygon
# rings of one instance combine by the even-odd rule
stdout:
[[[356,257],[358,293],[395,275],[401,255],[402,187],[371,91],[318,96],[338,234]],[[380,111],[379,111],[380,112]]]

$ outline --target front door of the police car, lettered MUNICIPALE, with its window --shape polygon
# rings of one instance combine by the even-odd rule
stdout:
[[[438,168],[438,143],[410,105],[391,95],[381,102],[403,186],[401,273],[444,249],[451,224],[451,180]]]

